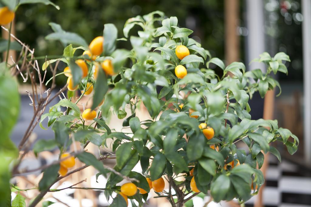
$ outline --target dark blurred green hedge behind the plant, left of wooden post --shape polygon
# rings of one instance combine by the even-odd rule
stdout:
[[[35,56],[61,55],[63,46],[44,37],[52,32],[49,22],[60,24],[66,31],[80,34],[89,43],[103,33],[106,23],[114,23],[118,37],[125,21],[136,15],[144,15],[154,10],[165,12],[167,16],[177,16],[179,24],[194,30],[193,38],[212,55],[224,57],[223,1],[203,0],[54,0],[60,10],[52,6],[22,5],[16,13],[16,33],[18,38],[35,48]],[[136,28],[138,29],[138,27]],[[135,29],[130,35],[137,34]],[[121,42],[124,47],[125,42]],[[128,47],[130,46],[129,43]],[[119,45],[120,46],[120,45]]]

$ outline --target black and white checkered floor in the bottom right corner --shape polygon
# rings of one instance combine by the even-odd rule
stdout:
[[[308,170],[286,160],[279,163],[271,155],[265,179],[265,207],[311,207],[311,176]],[[245,206],[251,207],[254,202],[256,196],[247,201]]]

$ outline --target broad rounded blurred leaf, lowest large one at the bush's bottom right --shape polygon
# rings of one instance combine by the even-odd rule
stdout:
[[[220,175],[211,185],[211,196],[215,202],[224,200],[230,188],[230,179],[225,175]]]

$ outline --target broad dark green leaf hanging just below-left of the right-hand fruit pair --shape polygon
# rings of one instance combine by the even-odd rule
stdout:
[[[192,136],[189,138],[187,144],[187,156],[189,160],[197,160],[202,156],[205,141],[206,138],[202,133],[198,136]]]

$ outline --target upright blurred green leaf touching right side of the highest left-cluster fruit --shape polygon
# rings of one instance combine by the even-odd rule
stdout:
[[[118,29],[114,24],[104,24],[104,56],[110,56],[116,49],[116,40],[118,38]]]

